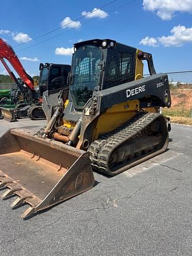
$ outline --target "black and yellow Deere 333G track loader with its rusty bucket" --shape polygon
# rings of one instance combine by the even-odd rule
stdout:
[[[168,76],[156,74],[151,54],[109,39],[74,50],[69,97],[60,92],[43,136],[15,129],[0,138],[3,197],[30,204],[23,217],[91,188],[92,170],[113,176],[168,146]]]

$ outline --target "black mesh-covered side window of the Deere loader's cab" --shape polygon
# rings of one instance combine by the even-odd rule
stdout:
[[[105,88],[114,87],[135,79],[135,55],[133,52],[119,52],[108,60],[105,71]]]

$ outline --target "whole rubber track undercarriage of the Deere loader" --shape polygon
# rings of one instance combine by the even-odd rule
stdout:
[[[88,151],[92,168],[113,176],[164,152],[167,146],[165,117],[141,112],[113,132],[101,135]]]

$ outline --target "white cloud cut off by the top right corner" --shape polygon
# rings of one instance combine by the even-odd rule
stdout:
[[[156,12],[162,20],[171,20],[175,12],[192,12],[191,0],[143,0],[143,8]]]

